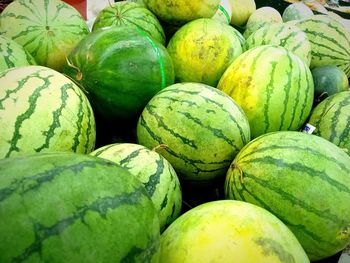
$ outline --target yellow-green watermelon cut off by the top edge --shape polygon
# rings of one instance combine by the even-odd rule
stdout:
[[[145,6],[161,20],[183,25],[198,18],[211,18],[220,6],[220,0],[143,0]]]

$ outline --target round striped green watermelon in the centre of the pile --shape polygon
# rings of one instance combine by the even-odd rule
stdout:
[[[206,181],[224,176],[250,140],[247,118],[226,94],[199,83],[178,83],[154,96],[137,124],[141,145],[161,153],[180,177]]]

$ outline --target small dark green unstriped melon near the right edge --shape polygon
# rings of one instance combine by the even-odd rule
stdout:
[[[337,66],[317,67],[311,73],[314,80],[316,103],[335,93],[348,90],[349,80],[345,72]]]

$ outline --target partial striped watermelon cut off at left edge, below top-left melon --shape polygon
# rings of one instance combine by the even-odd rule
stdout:
[[[22,46],[0,35],[0,72],[9,68],[35,64],[34,58]]]

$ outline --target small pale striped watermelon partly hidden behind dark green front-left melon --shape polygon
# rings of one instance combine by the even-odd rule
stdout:
[[[117,163],[143,183],[159,214],[161,230],[180,215],[180,182],[174,168],[161,155],[131,143],[106,145],[91,155]]]

